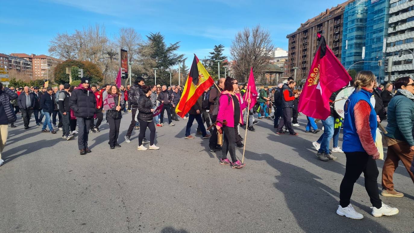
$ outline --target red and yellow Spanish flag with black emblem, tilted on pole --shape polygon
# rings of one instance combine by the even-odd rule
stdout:
[[[184,118],[185,114],[193,107],[205,89],[213,84],[212,77],[194,54],[193,65],[191,65],[190,72],[188,73],[183,94],[181,95],[180,102],[176,106],[177,115]]]

